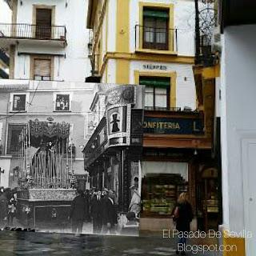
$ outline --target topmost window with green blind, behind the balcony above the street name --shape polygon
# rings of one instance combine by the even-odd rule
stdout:
[[[169,50],[169,10],[143,8],[143,48]]]

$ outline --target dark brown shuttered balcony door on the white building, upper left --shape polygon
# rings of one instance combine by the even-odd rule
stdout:
[[[36,9],[36,30],[35,36],[38,39],[51,38],[51,22],[52,10],[51,9]]]

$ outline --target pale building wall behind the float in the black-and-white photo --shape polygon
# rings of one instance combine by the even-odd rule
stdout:
[[[48,126],[62,122],[69,124],[69,142],[63,142],[62,154],[68,155],[66,146],[72,148],[72,170],[74,174],[85,174],[81,150],[89,139],[84,132],[89,111],[86,102],[93,98],[93,91],[94,85],[84,82],[73,83],[71,86],[70,82],[2,80],[1,186],[18,186],[17,167],[21,160],[19,136],[22,129],[31,122],[48,123]],[[54,140],[47,142],[54,143]],[[83,186],[86,186],[84,183]]]

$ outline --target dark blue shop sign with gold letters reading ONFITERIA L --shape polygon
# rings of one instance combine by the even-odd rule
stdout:
[[[203,134],[202,118],[154,118],[144,117],[146,134]]]

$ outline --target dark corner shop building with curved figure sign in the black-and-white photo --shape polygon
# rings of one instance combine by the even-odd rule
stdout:
[[[114,191],[121,227],[127,212],[140,213],[142,95],[142,86],[98,84],[90,106],[94,133],[83,150],[85,170],[91,187]]]

